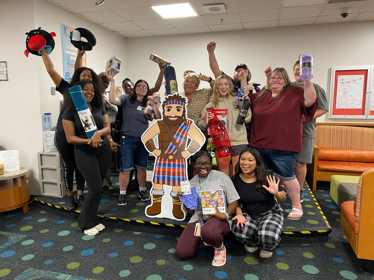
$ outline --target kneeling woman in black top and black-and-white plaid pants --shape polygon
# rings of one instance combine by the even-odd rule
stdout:
[[[240,196],[232,231],[248,252],[261,243],[261,258],[270,258],[281,240],[283,210],[277,203],[286,200],[286,193],[275,176],[267,176],[260,153],[253,148],[243,150],[232,178]]]

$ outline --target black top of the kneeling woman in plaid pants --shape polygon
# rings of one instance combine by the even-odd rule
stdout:
[[[269,193],[264,187],[261,186],[257,189],[258,181],[254,183],[245,183],[239,178],[232,179],[234,187],[240,196],[239,203],[242,203],[242,209],[248,215],[260,215],[275,205],[275,197]],[[276,178],[278,181],[278,178]],[[266,182],[267,187],[269,184]],[[278,191],[281,192],[283,189],[281,185],[278,185]]]

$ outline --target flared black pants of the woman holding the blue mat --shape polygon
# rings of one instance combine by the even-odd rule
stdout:
[[[82,172],[88,186],[82,211],[78,218],[78,227],[88,230],[100,224],[97,217],[97,209],[100,204],[102,181],[108,171],[111,152],[109,144],[99,148],[88,145],[76,145],[74,147],[75,161]]]

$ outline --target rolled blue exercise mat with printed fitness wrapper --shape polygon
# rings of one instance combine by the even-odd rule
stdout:
[[[76,87],[70,87],[69,92],[73,99],[75,108],[77,109],[78,116],[82,121],[82,126],[86,132],[88,139],[91,139],[93,133],[97,131],[95,121],[93,120],[90,109],[88,108],[86,98],[83,94],[82,87],[77,85]]]

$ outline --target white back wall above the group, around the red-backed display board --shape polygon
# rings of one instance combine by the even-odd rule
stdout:
[[[220,69],[232,75],[237,64],[245,63],[252,73],[251,81],[260,83],[262,87],[266,84],[264,69],[267,66],[273,69],[284,67],[291,81],[294,81],[292,66],[301,53],[307,53],[313,56],[313,82],[325,89],[329,100],[332,66],[374,64],[371,48],[374,37],[370,35],[373,29],[374,21],[360,21],[127,38],[126,66],[128,75],[134,79],[145,77],[152,84],[158,71],[157,66],[152,65],[155,63],[148,58],[150,53],[156,53],[172,62],[177,73],[178,90],[181,91],[183,72],[186,70],[213,76],[206,44],[217,41],[215,55]],[[208,83],[202,82],[202,86],[207,87]],[[164,92],[164,89],[161,88],[160,92]],[[373,122],[373,119],[328,119],[327,113],[317,121]]]

